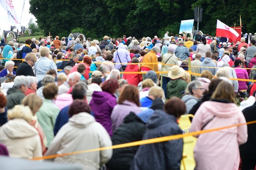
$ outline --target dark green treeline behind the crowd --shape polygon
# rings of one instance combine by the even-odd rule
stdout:
[[[194,19],[194,7],[203,8],[199,30],[215,34],[217,19],[228,26],[240,26],[254,34],[254,0],[30,0],[30,13],[44,34],[68,36],[71,31],[87,37],[163,37],[177,34],[180,21]],[[197,28],[197,22],[194,22]]]

